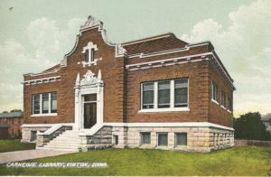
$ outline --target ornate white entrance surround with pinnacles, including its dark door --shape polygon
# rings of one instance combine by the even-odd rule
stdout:
[[[104,83],[101,72],[98,76],[88,70],[82,79],[77,74],[75,84],[74,129],[88,130],[103,123]]]

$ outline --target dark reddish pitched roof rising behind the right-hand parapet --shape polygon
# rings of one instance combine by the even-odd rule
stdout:
[[[178,39],[173,33],[164,33],[141,40],[125,42],[122,43],[122,46],[128,54],[138,54],[180,49],[187,44],[187,42]]]

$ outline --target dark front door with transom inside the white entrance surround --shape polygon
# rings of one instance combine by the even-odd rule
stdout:
[[[97,123],[97,94],[84,96],[84,128],[90,128]]]

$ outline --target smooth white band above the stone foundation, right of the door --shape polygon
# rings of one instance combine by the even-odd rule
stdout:
[[[210,122],[163,122],[163,123],[103,123],[103,126],[128,126],[128,127],[215,127],[233,131],[228,126],[220,126]]]

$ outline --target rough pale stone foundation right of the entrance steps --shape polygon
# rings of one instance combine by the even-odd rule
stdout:
[[[150,132],[151,143],[141,144],[140,133]],[[167,146],[157,145],[158,133],[166,133]],[[175,146],[175,133],[187,134],[187,145]],[[113,127],[112,135],[118,135],[116,148],[157,148],[188,152],[210,152],[234,145],[234,132],[216,127]]]

